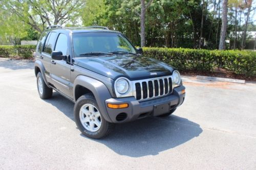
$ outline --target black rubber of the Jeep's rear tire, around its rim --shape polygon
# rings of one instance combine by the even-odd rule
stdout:
[[[42,85],[42,92],[39,91],[39,87],[38,87],[38,79],[40,79],[41,81],[41,85]],[[41,72],[38,72],[37,76],[36,76],[36,84],[37,84],[37,91],[38,94],[40,96],[41,99],[49,99],[52,97],[52,88],[49,88],[45,81],[44,78],[42,78],[42,74]]]

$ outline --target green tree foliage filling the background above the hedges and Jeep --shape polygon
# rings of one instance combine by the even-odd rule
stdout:
[[[97,25],[124,33],[137,46],[145,42],[145,46],[217,49],[223,1],[2,0],[0,27],[6,29],[0,31],[0,38],[9,35],[19,40],[36,39],[48,25]],[[250,7],[251,2],[228,1],[226,36],[222,38],[232,41],[229,47],[244,47],[248,39],[242,32],[256,31],[251,20],[255,7]]]

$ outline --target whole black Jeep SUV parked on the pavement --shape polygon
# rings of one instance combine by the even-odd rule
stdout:
[[[76,125],[91,138],[116,123],[168,116],[185,98],[175,68],[105,27],[48,27],[36,47],[35,75],[40,98],[54,89],[73,101]]]

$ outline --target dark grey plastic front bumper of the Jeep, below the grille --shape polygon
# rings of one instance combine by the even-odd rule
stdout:
[[[181,92],[184,89],[185,87],[181,85],[179,87],[174,88],[173,93],[170,95],[144,102],[138,102],[134,97],[111,98],[105,100],[106,111],[108,112],[108,115],[112,120],[112,123],[130,122],[139,118],[144,118],[153,115],[154,107],[157,105],[168,103],[170,105],[170,109],[177,108],[183,103],[185,99],[185,93],[182,94]],[[128,103],[129,107],[123,109],[112,109],[107,106],[108,103]]]

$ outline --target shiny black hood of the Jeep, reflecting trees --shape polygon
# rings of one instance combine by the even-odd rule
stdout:
[[[141,80],[172,75],[173,67],[145,56],[116,55],[74,58],[74,64],[116,80]]]

